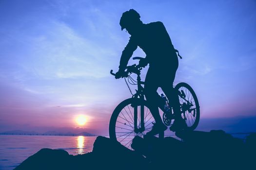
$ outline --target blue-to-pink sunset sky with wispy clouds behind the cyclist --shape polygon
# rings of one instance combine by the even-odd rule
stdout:
[[[119,19],[131,8],[144,23],[163,22],[182,55],[174,84],[195,90],[199,129],[256,131],[244,121],[256,124],[255,0],[0,0],[0,132],[107,135],[114,108],[131,97],[109,73],[129,40]]]

